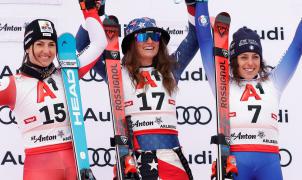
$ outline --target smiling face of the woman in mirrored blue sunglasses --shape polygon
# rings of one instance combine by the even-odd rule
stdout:
[[[153,58],[157,55],[159,42],[156,42],[149,37],[145,42],[135,42],[137,60],[141,66],[152,65]]]

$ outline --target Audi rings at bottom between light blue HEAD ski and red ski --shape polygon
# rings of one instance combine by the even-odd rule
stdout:
[[[90,166],[111,166],[115,164],[115,149],[114,148],[88,148],[88,154],[90,154],[91,159]]]

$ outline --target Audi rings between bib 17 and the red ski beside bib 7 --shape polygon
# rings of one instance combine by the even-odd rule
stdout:
[[[200,124],[206,125],[212,120],[212,112],[205,106],[177,106],[176,107],[177,124]]]

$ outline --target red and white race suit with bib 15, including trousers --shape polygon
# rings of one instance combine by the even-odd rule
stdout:
[[[79,76],[91,69],[107,45],[96,10],[83,11],[91,43],[79,55]],[[59,69],[44,80],[24,73],[0,82],[0,105],[14,111],[25,146],[24,180],[77,177],[72,136]]]

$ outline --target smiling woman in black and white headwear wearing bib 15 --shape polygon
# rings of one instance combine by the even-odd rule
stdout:
[[[89,3],[90,2],[90,3]],[[94,1],[83,9],[90,44],[80,52],[79,76],[89,71],[107,45]],[[88,8],[90,7],[90,8]],[[25,146],[24,180],[75,180],[70,121],[57,55],[57,33],[47,19],[29,23],[24,33],[20,73],[0,81],[0,105],[15,112]]]

